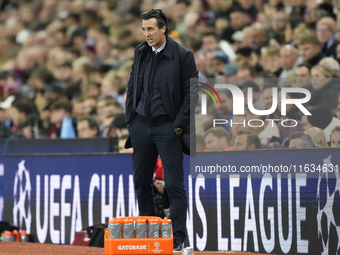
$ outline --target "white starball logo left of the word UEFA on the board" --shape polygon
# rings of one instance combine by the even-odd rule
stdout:
[[[22,229],[23,221],[25,221],[27,233],[30,233],[32,222],[31,191],[30,173],[25,167],[25,160],[22,160],[18,164],[18,171],[14,178],[13,225]]]

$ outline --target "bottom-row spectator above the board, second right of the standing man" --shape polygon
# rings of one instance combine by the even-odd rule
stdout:
[[[250,130],[240,130],[235,137],[233,150],[254,150],[260,149],[260,138]]]

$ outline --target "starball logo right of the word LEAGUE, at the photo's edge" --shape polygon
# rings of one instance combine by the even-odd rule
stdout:
[[[324,159],[324,164],[330,165],[332,156]],[[317,188],[318,238],[322,243],[322,253],[330,254],[330,249],[340,251],[340,219],[335,218],[334,208],[337,207],[340,197],[340,176],[338,171],[329,169],[320,172]],[[332,230],[332,231],[331,231]],[[335,233],[336,232],[336,233]],[[332,246],[332,247],[331,247]]]

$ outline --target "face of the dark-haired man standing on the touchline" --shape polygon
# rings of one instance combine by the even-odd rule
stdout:
[[[163,26],[161,29],[158,28],[155,18],[142,21],[143,35],[150,47],[153,46],[158,49],[165,43],[165,29],[166,26]]]

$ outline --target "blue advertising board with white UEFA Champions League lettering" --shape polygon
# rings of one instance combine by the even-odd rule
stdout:
[[[340,177],[329,165],[340,164],[339,154],[328,149],[185,157],[186,245],[196,250],[338,254]],[[273,170],[262,176],[230,172],[211,178],[206,172],[193,175],[189,166],[230,162],[240,169],[280,160],[297,169],[303,165],[304,171]],[[131,155],[13,155],[5,156],[4,165],[4,220],[41,243],[70,244],[82,228],[138,215]]]

